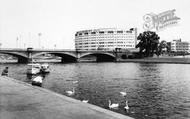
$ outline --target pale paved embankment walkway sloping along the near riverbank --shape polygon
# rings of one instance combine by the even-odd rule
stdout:
[[[132,119],[0,76],[0,119]]]

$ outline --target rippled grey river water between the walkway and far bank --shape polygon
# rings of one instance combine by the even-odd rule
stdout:
[[[10,77],[30,83],[26,64],[9,66]],[[190,65],[153,63],[50,63],[43,88],[108,108],[108,100],[119,103],[110,109],[137,119],[190,118]],[[73,83],[73,81],[78,81]],[[119,92],[126,91],[123,97]],[[128,101],[129,111],[124,110]]]

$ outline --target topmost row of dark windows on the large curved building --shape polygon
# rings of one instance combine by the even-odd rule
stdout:
[[[113,33],[118,33],[118,34],[122,34],[122,33],[132,33],[132,30],[130,31],[99,31],[99,32],[84,32],[84,33],[76,33],[75,36],[81,36],[81,35],[88,35],[88,34],[91,34],[91,35],[95,35],[95,34],[104,34],[104,33],[108,33],[108,34],[113,34]]]

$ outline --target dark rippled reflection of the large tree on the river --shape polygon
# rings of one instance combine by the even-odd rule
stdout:
[[[135,110],[139,118],[160,118],[162,110],[162,78],[159,64],[139,64],[138,80],[135,85]],[[133,101],[132,101],[133,102]]]

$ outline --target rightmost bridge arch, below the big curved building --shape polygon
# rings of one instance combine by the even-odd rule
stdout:
[[[114,54],[111,53],[101,53],[101,52],[95,52],[95,53],[84,53],[81,54],[80,58],[92,55],[96,57],[97,62],[104,62],[104,61],[115,61],[116,57]]]

